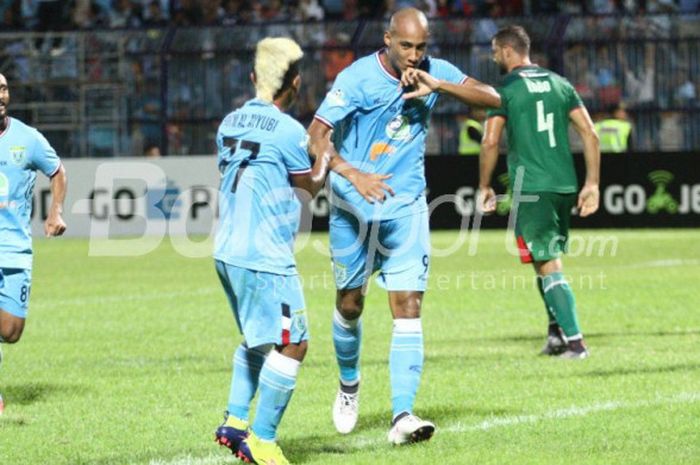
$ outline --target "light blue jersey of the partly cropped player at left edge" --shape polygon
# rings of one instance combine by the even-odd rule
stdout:
[[[32,268],[36,171],[52,177],[61,160],[44,136],[15,118],[0,134],[0,268]]]

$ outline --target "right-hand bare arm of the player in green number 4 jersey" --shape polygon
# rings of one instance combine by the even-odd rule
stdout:
[[[600,141],[593,121],[584,106],[571,110],[569,118],[583,140],[583,158],[586,161],[586,181],[578,195],[579,215],[588,216],[598,210],[600,204]]]

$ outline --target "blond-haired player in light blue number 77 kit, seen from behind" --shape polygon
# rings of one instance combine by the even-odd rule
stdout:
[[[312,166],[306,130],[285,113],[299,92],[302,55],[291,39],[260,41],[252,76],[256,98],[226,116],[217,134],[221,186],[214,258],[244,341],[233,356],[226,418],[216,441],[252,463],[289,463],[276,443],[277,426],[309,337],[293,254],[301,211],[297,193],[310,199],[319,191],[330,155],[320,154]]]

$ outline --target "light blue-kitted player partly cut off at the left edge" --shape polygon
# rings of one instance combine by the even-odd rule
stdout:
[[[0,343],[13,344],[22,336],[29,308],[36,172],[51,178],[51,206],[44,223],[47,236],[60,236],[66,230],[61,217],[66,173],[39,131],[8,116],[9,103],[7,79],[0,74]],[[0,413],[3,406],[0,397]]]

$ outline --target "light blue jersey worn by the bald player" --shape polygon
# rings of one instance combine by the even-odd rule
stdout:
[[[396,219],[425,211],[425,140],[437,93],[403,100],[399,79],[380,60],[380,50],[360,58],[333,83],[316,119],[334,129],[338,153],[356,168],[391,174],[396,193],[384,204],[369,204],[343,177],[331,173],[333,203],[347,202],[359,219]],[[460,84],[467,76],[445,60],[426,57],[420,68],[437,79]],[[338,202],[340,200],[341,202]]]

